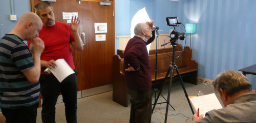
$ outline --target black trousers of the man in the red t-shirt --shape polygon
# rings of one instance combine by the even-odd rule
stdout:
[[[60,93],[65,103],[67,122],[77,122],[77,70],[74,71],[74,74],[65,78],[61,83],[55,76],[41,74],[39,82],[42,95],[42,122],[55,123],[55,105]]]

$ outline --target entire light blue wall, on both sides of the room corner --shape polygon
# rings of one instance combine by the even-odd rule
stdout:
[[[116,0],[116,36],[130,36],[131,19],[146,7],[148,16],[159,26],[159,34],[169,34],[167,16],[178,16],[179,21],[196,23],[196,34],[191,34],[193,59],[199,63],[199,77],[213,80],[224,70],[235,70],[254,65],[256,62],[256,1],[250,0]],[[130,8],[129,8],[130,6]],[[150,9],[152,7],[152,9]],[[148,10],[150,9],[150,10]],[[120,29],[119,29],[120,28]],[[178,32],[185,32],[182,25]],[[189,46],[187,34],[186,46]],[[179,41],[184,46],[184,41]],[[116,39],[115,50],[119,47]],[[246,75],[256,86],[256,76]]]

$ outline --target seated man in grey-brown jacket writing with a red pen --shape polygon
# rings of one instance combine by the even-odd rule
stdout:
[[[256,94],[249,80],[237,71],[223,71],[213,82],[225,108],[211,110],[191,122],[256,122]]]

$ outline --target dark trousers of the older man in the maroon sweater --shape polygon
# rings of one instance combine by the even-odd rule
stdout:
[[[132,104],[130,122],[150,123],[152,115],[151,89],[146,91],[128,89],[128,91],[132,97],[130,100]]]

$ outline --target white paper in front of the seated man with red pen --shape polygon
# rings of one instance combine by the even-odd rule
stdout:
[[[222,106],[214,93],[199,97],[194,97],[190,99],[191,103],[193,103],[196,110],[199,108],[199,115],[204,114],[213,110],[213,109],[221,109]]]

